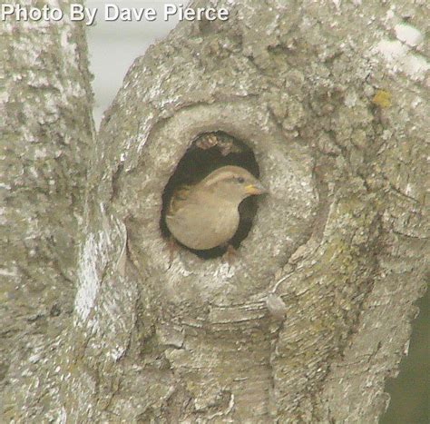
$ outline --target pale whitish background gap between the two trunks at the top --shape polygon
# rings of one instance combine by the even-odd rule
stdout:
[[[169,22],[162,18],[162,8],[166,3],[187,5],[188,1],[101,1],[87,0],[86,7],[97,7],[99,12],[96,24],[88,27],[88,48],[90,50],[90,69],[94,75],[93,91],[95,107],[93,111],[96,128],[99,128],[103,112],[112,103],[113,97],[122,85],[122,79],[134,59],[142,54],[150,44],[169,34],[178,23],[172,17]],[[153,7],[157,19],[153,22],[105,21],[103,9],[106,3],[119,7]]]

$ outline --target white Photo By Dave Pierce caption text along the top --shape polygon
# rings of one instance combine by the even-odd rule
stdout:
[[[99,10],[101,9],[101,10]],[[148,21],[153,22],[162,18],[168,22],[171,18],[180,21],[226,21],[229,19],[229,11],[225,7],[184,7],[166,3],[162,5],[162,13],[153,7],[120,7],[113,3],[106,3],[103,7],[85,7],[81,4],[69,5],[68,13],[60,7],[50,5],[27,6],[4,3],[0,8],[0,21],[13,19],[15,21],[60,21],[65,15],[71,21],[85,22],[85,25],[93,25],[96,17],[104,21]],[[99,14],[100,12],[100,14]]]

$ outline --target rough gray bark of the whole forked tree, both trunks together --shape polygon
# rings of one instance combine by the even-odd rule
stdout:
[[[6,419],[377,421],[428,257],[429,16],[395,3],[212,2],[135,61],[90,161],[81,29],[4,24]],[[270,195],[238,261],[169,266],[162,192],[216,131]]]

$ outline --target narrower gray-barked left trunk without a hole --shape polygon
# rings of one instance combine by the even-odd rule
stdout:
[[[9,422],[73,311],[93,138],[83,28],[0,22],[0,75],[0,421]]]

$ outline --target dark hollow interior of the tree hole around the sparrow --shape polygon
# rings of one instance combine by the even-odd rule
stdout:
[[[191,144],[191,147],[182,156],[175,172],[167,182],[162,193],[162,210],[160,228],[162,236],[168,240],[171,233],[165,222],[167,206],[171,200],[172,193],[183,184],[195,184],[200,182],[206,175],[220,166],[241,166],[259,178],[259,164],[255,155],[246,143],[230,136],[227,133],[202,133]],[[230,240],[230,245],[239,248],[252,227],[255,214],[257,213],[257,196],[250,196],[239,205],[240,222],[238,231]],[[181,245],[181,243],[179,243]],[[206,251],[195,251],[181,245],[184,249],[192,251],[202,259],[211,259],[223,255],[227,246],[216,247]]]

